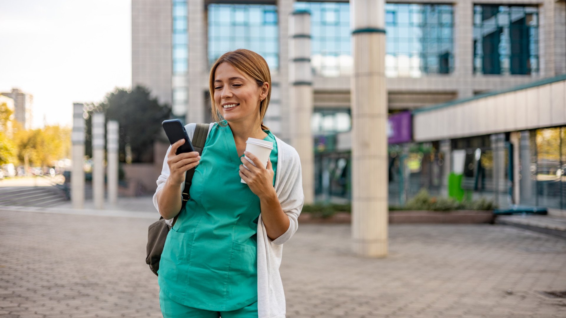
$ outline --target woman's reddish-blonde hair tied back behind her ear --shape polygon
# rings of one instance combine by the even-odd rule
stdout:
[[[229,51],[224,54],[220,58],[216,60],[216,62],[211,67],[211,73],[209,76],[209,89],[210,89],[210,96],[211,96],[211,114],[212,119],[217,122],[218,124],[221,123],[220,111],[216,105],[214,100],[214,87],[215,87],[215,72],[218,65],[221,63],[229,63],[233,66],[236,70],[242,72],[243,74],[249,76],[251,79],[255,80],[258,84],[258,87],[261,87],[264,82],[267,81],[269,84],[269,91],[267,92],[267,97],[264,98],[263,101],[259,102],[259,119],[261,122],[261,130],[269,130],[267,126],[263,124],[263,117],[265,116],[265,112],[267,112],[267,106],[269,105],[269,98],[271,98],[271,73],[269,72],[269,66],[265,59],[261,57],[258,53],[254,51],[247,50],[247,49],[237,49],[234,51]]]

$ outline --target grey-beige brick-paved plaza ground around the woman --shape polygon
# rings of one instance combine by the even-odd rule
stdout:
[[[0,317],[161,317],[143,214],[0,210]],[[389,257],[363,259],[348,225],[299,226],[281,265],[288,317],[565,316],[538,293],[566,290],[564,239],[503,225],[393,225],[389,237]]]

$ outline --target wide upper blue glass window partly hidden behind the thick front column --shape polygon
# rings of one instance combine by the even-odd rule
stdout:
[[[295,2],[296,10],[311,12],[311,65],[315,74],[350,75],[350,4]],[[453,71],[452,5],[387,3],[385,74],[390,78]]]

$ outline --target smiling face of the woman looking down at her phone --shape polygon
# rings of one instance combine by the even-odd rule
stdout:
[[[223,62],[214,75],[214,100],[222,117],[229,122],[260,121],[260,101],[267,97],[268,85],[261,87],[255,80]]]

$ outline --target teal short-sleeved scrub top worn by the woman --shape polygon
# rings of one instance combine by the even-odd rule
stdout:
[[[268,134],[264,140],[273,142],[269,158],[277,171],[275,136],[264,131]],[[230,126],[215,124],[192,178],[191,198],[161,254],[158,283],[175,302],[232,311],[258,300],[260,201],[240,182],[240,158]]]

